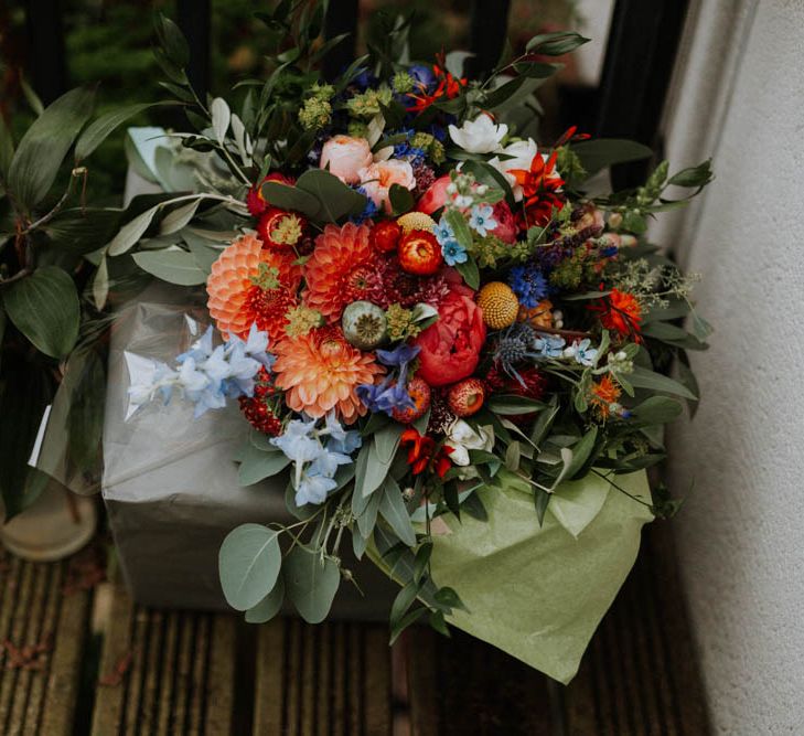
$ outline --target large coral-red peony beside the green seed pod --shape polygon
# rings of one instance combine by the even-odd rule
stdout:
[[[446,386],[474,372],[485,342],[483,313],[471,290],[454,288],[438,308],[438,321],[417,339],[419,370],[416,375],[431,386]]]

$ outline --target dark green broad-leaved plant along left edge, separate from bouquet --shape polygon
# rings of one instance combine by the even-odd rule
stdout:
[[[47,477],[29,466],[40,419],[60,387],[68,403],[66,450],[77,471],[97,459],[104,363],[82,290],[85,256],[118,228],[121,211],[84,206],[87,158],[143,106],[90,121],[95,93],[73,89],[49,107],[33,98],[33,124],[15,141],[0,121],[0,493],[10,519]],[[72,154],[71,154],[72,151]],[[64,402],[57,402],[64,405]],[[54,407],[55,408],[55,407]]]

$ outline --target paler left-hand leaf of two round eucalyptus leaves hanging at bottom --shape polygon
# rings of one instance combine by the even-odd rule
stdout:
[[[261,524],[243,524],[224,540],[218,570],[232,608],[254,608],[274,589],[282,565],[277,536],[278,532]]]

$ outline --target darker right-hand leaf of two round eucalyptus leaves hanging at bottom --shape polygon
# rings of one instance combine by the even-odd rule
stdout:
[[[332,608],[341,584],[337,565],[304,547],[296,546],[285,559],[285,590],[299,616],[308,623],[320,623]]]

